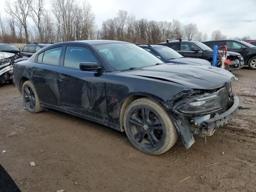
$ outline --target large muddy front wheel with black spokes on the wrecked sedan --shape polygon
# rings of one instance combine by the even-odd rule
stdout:
[[[132,145],[150,155],[168,151],[178,139],[176,127],[166,110],[149,98],[140,98],[128,106],[124,113],[124,129]]]

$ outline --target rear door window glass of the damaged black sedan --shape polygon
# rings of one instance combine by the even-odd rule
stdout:
[[[43,63],[58,65],[62,47],[56,47],[44,52]]]

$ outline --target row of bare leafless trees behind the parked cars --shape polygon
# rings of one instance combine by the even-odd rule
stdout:
[[[46,0],[6,1],[7,16],[0,13],[0,42],[63,42],[73,40],[108,39],[133,43],[159,43],[166,39],[187,38],[208,40],[196,24],[182,24],[179,20],[155,21],[136,19],[134,14],[119,10],[98,28],[92,6],[83,0],[52,0],[50,10]],[[212,40],[226,39],[220,30],[212,32]],[[240,39],[236,37],[236,39]],[[248,36],[242,40],[250,39]]]

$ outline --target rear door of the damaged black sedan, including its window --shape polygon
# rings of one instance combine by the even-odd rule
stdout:
[[[30,67],[30,79],[36,88],[40,102],[45,105],[60,106],[58,69],[62,48],[57,46],[38,53]]]

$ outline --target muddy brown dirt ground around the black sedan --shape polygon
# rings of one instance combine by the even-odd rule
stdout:
[[[195,136],[195,144],[186,150],[179,139],[159,156],[139,152],[125,133],[94,122],[54,110],[31,114],[18,90],[2,85],[0,164],[22,192],[254,192],[256,71],[234,74],[242,82],[233,82],[233,92],[251,110],[240,110],[206,144]],[[206,168],[210,164],[215,165]]]

